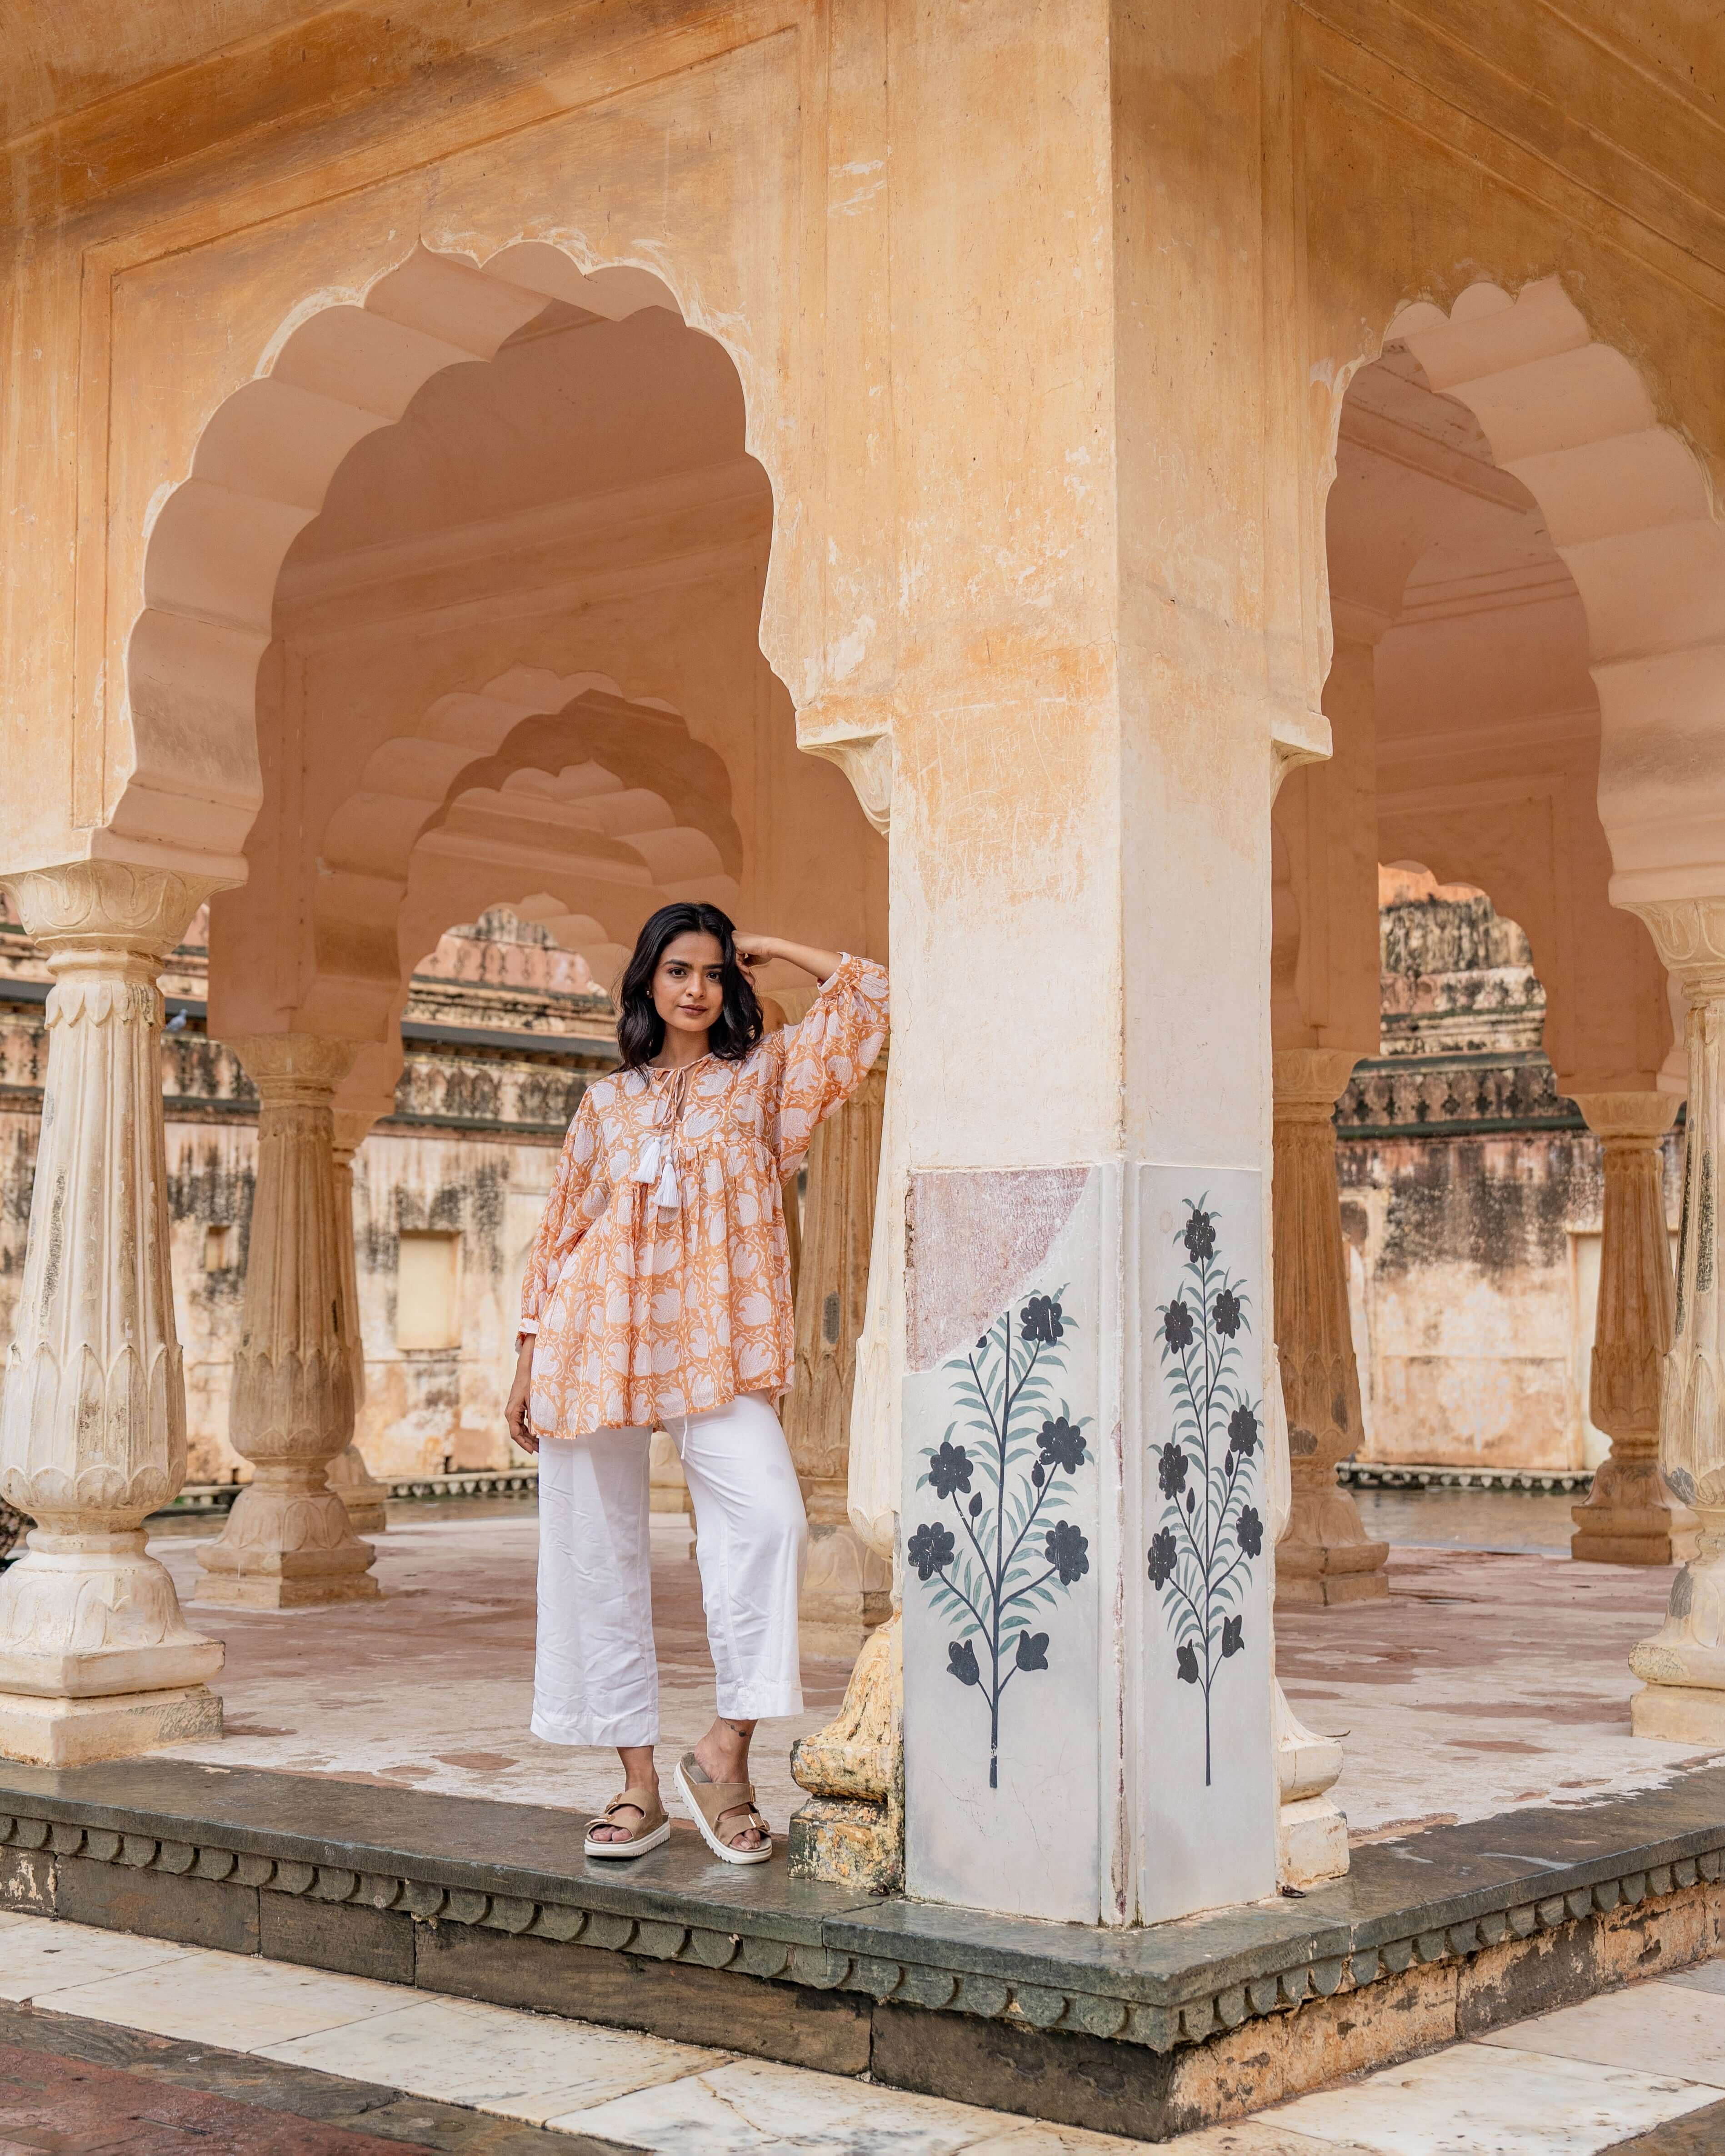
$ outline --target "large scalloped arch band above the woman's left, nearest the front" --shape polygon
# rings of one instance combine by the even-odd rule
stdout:
[[[649,306],[688,319],[651,270],[582,272],[561,246],[520,241],[483,263],[416,246],[360,298],[319,295],[282,323],[254,379],[211,414],[149,533],[119,839],[237,860],[263,798],[257,666],[287,550],[356,442],[399,420],[433,373],[494,358],[552,300],[610,321]]]

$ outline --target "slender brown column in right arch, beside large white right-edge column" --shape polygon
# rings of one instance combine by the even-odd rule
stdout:
[[[1669,1093],[1581,1093],[1576,1106],[1604,1151],[1587,1412],[1611,1438],[1611,1457],[1587,1503],[1572,1507],[1570,1557],[1671,1565],[1695,1552],[1695,1516],[1671,1503],[1658,1473],[1658,1397],[1675,1315],[1660,1138],[1678,1102]]]

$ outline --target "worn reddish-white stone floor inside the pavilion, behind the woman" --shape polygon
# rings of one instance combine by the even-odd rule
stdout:
[[[1628,1651],[1658,1623],[1665,1570],[1576,1565],[1568,1503],[1481,1492],[1367,1492],[1393,1550],[1386,1602],[1279,1619],[1276,1656],[1296,1712],[1343,1736],[1337,1796],[1356,1837],[1479,1820],[1533,1802],[1585,1802],[1656,1783],[1695,1757],[1630,1736]],[[1464,1518],[1466,1514],[1466,1518]],[[528,1505],[392,1509],[377,1604],[263,1615],[198,1611],[229,1645],[229,1733],[183,1757],[595,1809],[617,1787],[610,1753],[528,1733],[535,1518]],[[185,1522],[190,1529],[192,1522]],[[201,1524],[153,1544],[181,1593],[196,1583]],[[1462,1548],[1488,1539],[1494,1548]],[[1557,1548],[1552,1548],[1557,1544]],[[712,1718],[712,1664],[688,1526],[653,1529],[662,1770]],[[804,1664],[802,1716],[755,1751],[768,1818],[800,1802],[794,1736],[822,1727],[845,1664]]]

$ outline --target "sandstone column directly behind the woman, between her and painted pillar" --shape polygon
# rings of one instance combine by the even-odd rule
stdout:
[[[809,1194],[796,1298],[796,1384],[785,1401],[809,1507],[802,1651],[854,1660],[891,1608],[891,1565],[850,1524],[850,1404],[869,1300],[869,1244],[880,1179],[886,1056],[809,1147]]]

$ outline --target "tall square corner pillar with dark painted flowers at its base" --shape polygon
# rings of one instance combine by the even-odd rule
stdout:
[[[1128,1925],[1279,1876],[1270,804],[1328,750],[1309,367],[1259,13],[988,22],[923,17],[893,78],[919,198],[968,207],[964,248],[893,257],[906,1887]],[[1007,67],[1029,192],[960,121]],[[1059,304],[1035,280],[983,354],[998,263],[1044,259]]]

